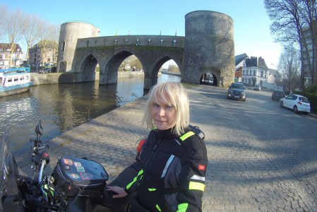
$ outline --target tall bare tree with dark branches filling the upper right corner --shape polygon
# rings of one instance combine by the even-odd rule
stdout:
[[[305,69],[304,58],[312,81],[316,62],[309,54],[309,37],[307,30],[313,29],[316,20],[316,1],[313,0],[264,0],[268,16],[273,23],[271,33],[275,35],[277,42],[284,45],[297,44],[301,52],[301,86],[304,88]],[[313,10],[315,8],[315,11]],[[313,32],[313,31],[311,31]],[[313,40],[313,39],[312,39]],[[313,55],[316,55],[316,47],[313,45]]]

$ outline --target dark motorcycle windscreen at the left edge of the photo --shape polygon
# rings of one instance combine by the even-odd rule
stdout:
[[[8,130],[2,135],[0,149],[0,199],[2,196],[18,194],[16,179],[18,177],[18,165],[10,148],[8,148]]]

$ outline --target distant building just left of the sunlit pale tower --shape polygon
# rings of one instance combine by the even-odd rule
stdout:
[[[56,64],[58,44],[52,40],[41,40],[29,49],[28,64],[33,66]]]

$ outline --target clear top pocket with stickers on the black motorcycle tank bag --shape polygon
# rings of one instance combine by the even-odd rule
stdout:
[[[104,167],[93,160],[64,156],[61,157],[61,168],[74,182],[106,181],[109,178]]]

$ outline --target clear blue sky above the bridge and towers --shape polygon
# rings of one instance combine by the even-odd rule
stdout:
[[[234,20],[235,55],[262,57],[276,69],[282,47],[270,34],[270,18],[263,0],[1,0],[0,5],[20,9],[42,20],[61,25],[83,21],[100,28],[100,36],[175,35],[185,36],[185,15],[192,11],[216,11]],[[1,40],[0,42],[4,42]],[[23,51],[26,45],[19,42]]]

